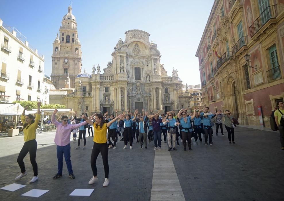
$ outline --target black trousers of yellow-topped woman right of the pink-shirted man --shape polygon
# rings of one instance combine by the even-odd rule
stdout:
[[[98,154],[101,152],[104,169],[105,169],[105,178],[109,178],[109,162],[107,159],[107,155],[109,152],[109,148],[107,147],[107,143],[99,144],[94,142],[92,154],[91,154],[91,167],[93,171],[93,175],[97,175],[97,167],[96,167],[96,161],[98,158]]]

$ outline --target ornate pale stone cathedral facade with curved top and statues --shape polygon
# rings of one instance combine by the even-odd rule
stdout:
[[[191,96],[183,93],[178,71],[173,69],[172,76],[167,75],[164,64],[160,63],[161,54],[157,44],[149,42],[149,36],[142,30],[126,31],[125,40],[120,38],[111,53],[112,60],[103,69],[99,65],[94,66],[92,74],[84,72],[73,78],[74,74],[64,77],[60,73],[52,73],[59,83],[50,96],[50,102],[66,105],[78,113],[84,110],[89,113],[113,113],[115,110],[121,112],[128,109],[142,112],[142,108],[154,113],[178,111],[181,97],[183,106],[190,107]],[[53,58],[64,61],[63,65],[60,64],[63,69],[65,57],[59,52],[59,57]],[[77,57],[71,58],[76,60]],[[78,66],[74,67],[76,69]],[[70,88],[74,88],[73,92]]]

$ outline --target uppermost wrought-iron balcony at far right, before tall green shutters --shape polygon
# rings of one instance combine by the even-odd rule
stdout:
[[[250,37],[254,36],[270,19],[276,18],[276,5],[266,7],[260,16],[250,26]]]

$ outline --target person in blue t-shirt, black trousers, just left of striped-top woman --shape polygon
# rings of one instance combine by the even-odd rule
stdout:
[[[199,112],[198,112],[199,113]],[[209,112],[209,107],[205,107],[204,112],[200,113],[200,118],[203,120],[203,127],[204,127],[204,134],[205,134],[205,145],[208,145],[207,140],[209,136],[209,144],[212,145],[212,125],[211,125],[211,119],[215,117],[215,114],[212,114]]]

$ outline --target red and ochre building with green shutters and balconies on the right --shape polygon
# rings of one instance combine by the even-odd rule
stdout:
[[[196,52],[210,111],[229,109],[241,124],[261,125],[260,106],[270,126],[271,111],[284,98],[283,7],[283,0],[214,2]]]

